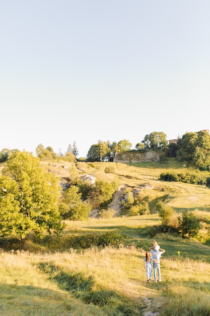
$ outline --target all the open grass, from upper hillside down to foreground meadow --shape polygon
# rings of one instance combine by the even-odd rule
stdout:
[[[114,172],[105,173],[110,164]],[[199,209],[200,217],[209,217],[207,187],[159,180],[164,170],[186,168],[174,160],[78,163],[76,170],[67,163],[45,165],[63,181],[91,173],[97,179],[117,180],[119,185],[149,184],[151,188],[142,190],[150,196],[151,207],[164,198],[177,212]],[[148,227],[160,223],[156,213],[65,223],[60,236],[40,240],[29,234],[26,252],[17,250],[18,238],[0,238],[1,247],[8,249],[0,254],[0,315],[210,315],[210,247],[202,240],[209,227],[202,228],[196,239],[183,239],[169,233],[149,235]],[[95,236],[112,232],[119,234],[116,246],[82,247]],[[154,238],[166,250],[161,283],[147,283],[143,271],[145,251]]]

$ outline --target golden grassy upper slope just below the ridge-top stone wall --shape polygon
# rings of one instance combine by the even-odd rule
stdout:
[[[108,166],[114,166],[114,173],[105,173]],[[158,198],[167,200],[177,212],[184,209],[210,210],[210,189],[201,185],[191,185],[180,182],[160,181],[160,174],[166,171],[182,172],[185,165],[170,159],[167,162],[156,163],[78,163],[78,174],[92,173],[97,179],[106,181],[117,180],[119,184],[142,187],[146,184],[154,186],[154,189],[144,188],[144,195],[150,196],[151,207]],[[203,172],[204,177],[210,177],[209,172]]]

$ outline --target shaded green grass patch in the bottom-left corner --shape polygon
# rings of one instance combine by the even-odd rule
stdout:
[[[82,305],[78,307],[76,299],[66,298],[65,293],[35,286],[1,284],[0,295],[0,314],[4,316],[67,315],[72,309],[80,311]]]

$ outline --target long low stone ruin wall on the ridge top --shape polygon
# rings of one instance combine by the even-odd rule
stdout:
[[[142,163],[157,162],[160,160],[160,154],[156,151],[148,152],[116,152],[114,163]]]

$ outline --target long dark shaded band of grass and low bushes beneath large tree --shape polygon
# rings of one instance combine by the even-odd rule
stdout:
[[[47,235],[40,239],[35,234],[27,236],[27,250],[31,252],[46,251],[68,251],[74,249],[87,249],[90,247],[104,247],[108,245],[126,246],[135,245],[137,248],[144,248],[141,238],[147,237],[145,228],[127,226],[102,226],[89,227],[89,231],[80,232],[77,235]],[[0,247],[5,251],[20,250],[20,240],[18,238],[0,238]]]

